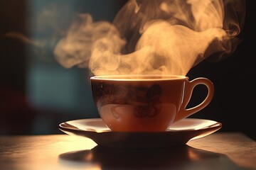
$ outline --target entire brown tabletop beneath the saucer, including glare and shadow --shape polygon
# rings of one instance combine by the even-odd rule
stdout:
[[[256,169],[256,142],[215,132],[182,147],[111,149],[70,135],[0,136],[0,169]]]

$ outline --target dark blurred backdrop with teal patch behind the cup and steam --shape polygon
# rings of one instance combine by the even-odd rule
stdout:
[[[64,69],[53,49],[76,12],[89,11],[95,21],[112,21],[124,3],[0,0],[0,135],[58,134],[63,121],[98,117],[90,72]],[[218,121],[223,123],[219,131],[244,132],[256,140],[255,1],[246,0],[246,8],[242,42],[233,55],[220,62],[205,60],[188,72],[190,79],[207,77],[215,86],[213,101],[191,117]],[[191,106],[203,98],[200,88]]]

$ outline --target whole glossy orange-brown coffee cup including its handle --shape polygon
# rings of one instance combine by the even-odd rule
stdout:
[[[180,75],[108,75],[90,77],[100,118],[112,131],[163,132],[178,120],[201,111],[213,98],[213,83]],[[206,98],[186,108],[193,89],[203,84]]]

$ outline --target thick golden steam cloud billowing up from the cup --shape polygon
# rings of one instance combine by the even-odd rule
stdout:
[[[88,67],[95,75],[186,75],[210,56],[231,55],[244,17],[242,0],[130,0],[113,23],[79,15],[55,57],[63,67]]]

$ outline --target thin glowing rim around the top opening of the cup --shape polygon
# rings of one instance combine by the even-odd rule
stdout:
[[[143,77],[143,79],[142,79]],[[188,79],[186,76],[174,74],[124,74],[124,75],[100,75],[92,76],[90,80],[107,80],[107,81],[163,81]]]

